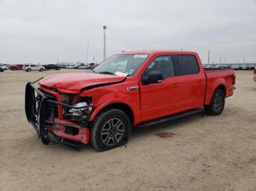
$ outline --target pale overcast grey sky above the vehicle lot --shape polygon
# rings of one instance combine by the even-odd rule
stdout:
[[[256,0],[0,0],[0,63],[192,50],[203,63],[256,63]]]

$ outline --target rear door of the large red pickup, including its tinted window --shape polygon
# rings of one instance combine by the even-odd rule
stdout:
[[[199,59],[199,58],[198,58]],[[203,106],[206,93],[206,75],[197,63],[195,55],[174,55],[179,96],[179,112]]]

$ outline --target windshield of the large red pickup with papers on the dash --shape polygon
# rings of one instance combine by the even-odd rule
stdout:
[[[113,55],[94,69],[101,74],[115,74],[118,76],[132,76],[146,61],[148,55]]]

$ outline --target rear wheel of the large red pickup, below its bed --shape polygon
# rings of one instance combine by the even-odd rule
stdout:
[[[217,89],[211,97],[210,105],[205,105],[206,114],[219,115],[222,113],[225,106],[225,94],[223,90]]]

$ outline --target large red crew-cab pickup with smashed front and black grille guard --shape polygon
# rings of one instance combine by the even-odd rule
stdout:
[[[231,69],[203,69],[196,52],[121,52],[89,73],[29,82],[26,117],[44,144],[104,151],[126,144],[132,126],[221,114],[235,81]]]

